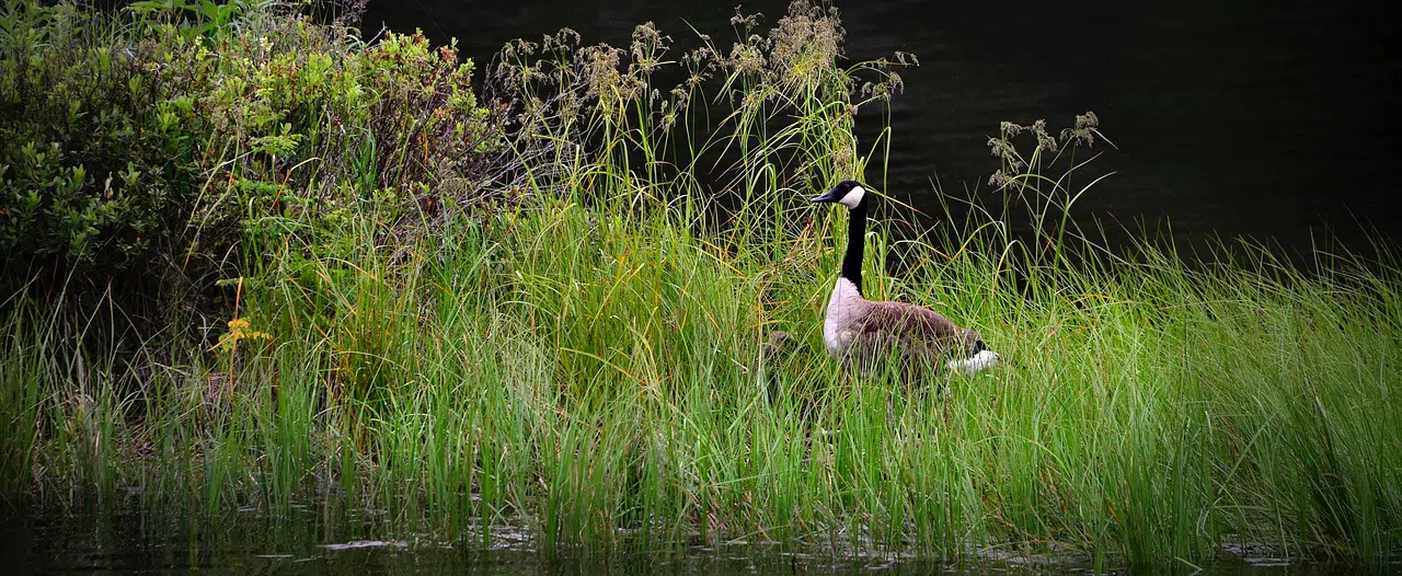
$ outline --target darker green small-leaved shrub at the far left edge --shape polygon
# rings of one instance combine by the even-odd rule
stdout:
[[[171,154],[174,112],[149,98],[164,87],[69,4],[13,6],[0,22],[0,249],[126,268],[170,228],[193,174]]]

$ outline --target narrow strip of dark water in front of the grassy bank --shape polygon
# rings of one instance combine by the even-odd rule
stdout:
[[[101,519],[101,520],[97,520]],[[1223,558],[1199,570],[1173,562],[1152,566],[1095,566],[1080,556],[984,554],[962,562],[824,554],[785,554],[765,547],[690,547],[667,552],[541,554],[519,534],[494,531],[479,540],[444,542],[432,537],[374,538],[384,521],[372,516],[325,521],[315,507],[280,516],[241,512],[217,521],[136,513],[0,512],[0,554],[7,575],[285,575],[285,573],[482,573],[482,575],[896,575],[988,573],[1193,573],[1203,576],[1315,576],[1395,573],[1402,565],[1350,566],[1287,562],[1266,555]]]

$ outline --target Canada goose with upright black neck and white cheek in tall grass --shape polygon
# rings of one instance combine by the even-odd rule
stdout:
[[[843,181],[812,202],[840,203],[851,217],[843,272],[823,318],[823,345],[829,355],[864,374],[885,359],[899,357],[907,381],[934,373],[951,356],[953,360],[945,363],[946,369],[970,374],[998,363],[998,355],[984,346],[977,331],[959,328],[930,308],[862,297],[862,238],[872,200],[859,184]]]

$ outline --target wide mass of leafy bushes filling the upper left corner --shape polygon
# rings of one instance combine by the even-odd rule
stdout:
[[[240,245],[317,245],[352,212],[418,226],[495,157],[471,74],[422,35],[370,45],[273,3],[7,4],[6,269],[234,276],[259,261]]]

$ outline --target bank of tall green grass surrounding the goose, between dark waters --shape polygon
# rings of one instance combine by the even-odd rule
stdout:
[[[192,42],[237,55],[259,46],[243,34],[285,29],[271,21]],[[522,526],[543,547],[1396,552],[1394,262],[1319,255],[1304,273],[1258,251],[1189,266],[1148,244],[1073,259],[1084,248],[1060,214],[1091,178],[1052,174],[1085,158],[1092,119],[1059,136],[1005,126],[988,193],[1028,199],[1037,235],[1009,235],[997,210],[920,231],[886,202],[866,286],[977,328],[1009,366],[843,376],[819,327],[844,214],[805,199],[858,175],[882,188],[887,142],[858,143],[852,125],[900,88],[904,57],[845,63],[836,15],[805,4],[773,28],[735,25],[733,46],[686,52],[651,25],[625,49],[564,32],[513,43],[484,71],[510,121],[458,101],[477,132],[415,128],[453,114],[447,100],[380,115],[395,88],[365,83],[398,56],[331,45],[328,66],[374,98],[345,114],[299,101],[315,114],[276,128],[283,140],[196,132],[231,144],[198,149],[212,151],[177,182],[195,186],[189,210],[216,210],[210,191],[251,195],[217,212],[237,223],[236,256],[209,268],[217,306],[115,329],[121,297],[21,276],[0,317],[6,493],[212,514],[315,502],[383,512],[391,533]],[[257,80],[321,60],[250,62],[266,64],[244,70]],[[665,74],[683,80],[655,85]],[[306,136],[355,119],[374,143]],[[435,137],[488,160],[423,160]],[[189,238],[209,224],[165,226]],[[220,329],[192,331],[199,310]],[[761,359],[771,329],[802,346]]]

